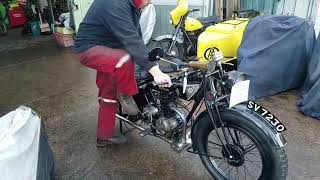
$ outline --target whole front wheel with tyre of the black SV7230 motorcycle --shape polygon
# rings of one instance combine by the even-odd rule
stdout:
[[[274,147],[268,136],[246,117],[221,112],[221,118],[225,123],[226,137],[221,127],[214,129],[209,116],[199,119],[195,131],[201,161],[213,177],[286,179],[288,162],[284,148]]]

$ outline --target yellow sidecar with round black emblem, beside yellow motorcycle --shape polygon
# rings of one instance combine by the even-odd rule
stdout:
[[[223,53],[223,62],[237,59],[237,50],[248,22],[249,19],[238,18],[206,28],[198,37],[197,57],[200,61],[210,60],[210,49],[216,47]]]

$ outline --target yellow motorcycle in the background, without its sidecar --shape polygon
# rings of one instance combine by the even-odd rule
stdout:
[[[158,47],[180,59],[196,55],[198,36],[206,27],[220,22],[217,16],[197,19],[189,17],[189,14],[196,11],[200,9],[189,10],[186,0],[178,0],[176,8],[170,12],[170,24],[174,26],[174,32],[157,37],[155,41],[159,42]]]

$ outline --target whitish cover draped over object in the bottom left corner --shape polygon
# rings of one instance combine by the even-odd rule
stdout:
[[[37,113],[22,106],[0,117],[0,180],[50,180],[53,166]]]

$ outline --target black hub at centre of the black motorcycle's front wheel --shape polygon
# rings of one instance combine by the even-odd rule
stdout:
[[[241,146],[228,144],[222,148],[222,155],[232,166],[240,167],[244,163],[244,149]]]

